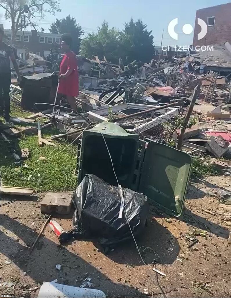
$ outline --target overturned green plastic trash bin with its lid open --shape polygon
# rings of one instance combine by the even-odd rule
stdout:
[[[171,215],[181,214],[191,171],[190,155],[155,141],[141,141],[138,134],[102,122],[85,130],[79,142],[78,184],[84,175],[94,174],[117,186],[107,147],[122,187],[144,193]]]

